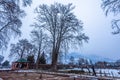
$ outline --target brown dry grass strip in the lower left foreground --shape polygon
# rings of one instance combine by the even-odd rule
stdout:
[[[62,77],[49,74],[41,74],[35,72],[0,72],[3,80],[74,80],[69,77]]]

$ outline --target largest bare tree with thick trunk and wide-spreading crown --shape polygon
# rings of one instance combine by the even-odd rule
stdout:
[[[49,35],[53,70],[57,69],[58,55],[64,47],[68,49],[72,44],[81,45],[83,40],[88,40],[82,33],[82,22],[73,14],[73,9],[72,4],[59,3],[50,6],[43,4],[35,9],[38,16],[34,26],[40,27]]]

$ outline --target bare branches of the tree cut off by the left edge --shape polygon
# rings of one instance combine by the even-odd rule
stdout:
[[[21,17],[25,12],[20,8],[21,0],[0,0],[0,49],[7,47],[11,35],[20,35]],[[23,0],[24,6],[30,5],[31,0]]]

